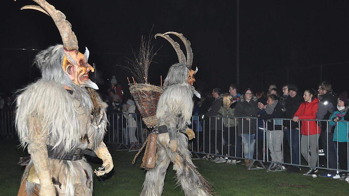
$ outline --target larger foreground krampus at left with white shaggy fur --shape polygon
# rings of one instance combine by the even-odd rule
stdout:
[[[36,9],[52,17],[63,45],[40,51],[35,63],[42,78],[24,88],[17,98],[16,127],[22,146],[28,145],[30,162],[18,195],[92,195],[93,172],[84,154],[98,156],[104,175],[113,161],[103,143],[106,104],[89,79],[94,71],[89,52],[78,51],[77,39],[65,15],[44,0]],[[92,89],[93,88],[93,89]],[[90,150],[87,150],[90,149]]]

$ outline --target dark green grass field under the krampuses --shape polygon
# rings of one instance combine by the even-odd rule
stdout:
[[[0,140],[0,195],[17,195],[23,168],[17,165],[19,157],[26,153],[18,150],[14,140]],[[25,150],[26,151],[26,150]],[[95,196],[139,195],[144,180],[144,171],[139,167],[141,158],[133,166],[136,152],[109,149],[114,169],[107,176],[94,179]],[[142,155],[140,155],[142,156]],[[312,178],[302,173],[247,171],[243,165],[216,164],[211,161],[194,160],[200,173],[214,184],[218,195],[348,195],[349,184],[342,180]],[[92,168],[101,165],[92,160]],[[307,171],[306,168],[302,172]],[[303,185],[303,186],[292,186]],[[175,188],[174,172],[170,165],[166,173],[163,196],[184,195]]]

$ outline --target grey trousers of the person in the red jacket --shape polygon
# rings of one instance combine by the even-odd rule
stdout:
[[[318,160],[318,140],[318,134],[302,135],[302,139],[300,140],[300,153],[302,153],[309,166],[316,166]]]

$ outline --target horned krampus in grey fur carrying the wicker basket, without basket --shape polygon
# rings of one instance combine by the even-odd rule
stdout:
[[[187,59],[180,50],[179,44],[174,42],[169,34],[178,36],[185,44]],[[172,65],[164,81],[165,91],[160,96],[156,118],[159,120],[157,153],[154,169],[149,169],[143,183],[142,196],[159,196],[162,194],[166,169],[170,162],[176,171],[178,184],[187,196],[211,195],[199,179],[199,176],[190,168],[193,167],[191,153],[188,150],[185,132],[189,139],[195,138],[192,129],[187,125],[191,123],[193,111],[193,94],[200,97],[200,94],[193,87],[194,74],[198,70],[192,70],[193,53],[190,42],[180,33],[167,32],[156,34],[168,40],[176,50],[179,63]],[[182,159],[177,152],[187,160]]]

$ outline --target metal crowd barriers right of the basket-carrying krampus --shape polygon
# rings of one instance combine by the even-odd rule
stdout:
[[[265,163],[270,163],[268,168],[267,168],[267,171],[269,171],[270,167],[273,166],[273,164],[279,164],[280,166],[281,165],[292,165],[292,166],[299,166],[299,167],[309,167],[309,168],[319,168],[319,169],[327,169],[327,170],[335,170],[335,171],[342,171],[342,172],[348,172],[349,173],[349,161],[348,161],[348,156],[349,156],[349,142],[347,140],[346,143],[346,148],[344,149],[346,151],[346,155],[347,155],[347,161],[344,161],[346,162],[346,166],[343,168],[340,168],[339,166],[339,150],[337,148],[338,146],[338,139],[337,141],[334,141],[334,142],[331,142],[330,141],[330,144],[332,143],[336,143],[336,151],[335,151],[335,155],[336,155],[336,160],[330,160],[329,159],[329,151],[328,151],[328,148],[329,148],[329,141],[328,141],[328,136],[329,134],[331,133],[331,130],[328,130],[328,123],[330,122],[330,120],[314,120],[314,119],[309,119],[309,120],[299,120],[298,122],[298,127],[297,129],[293,130],[293,131],[297,131],[298,133],[296,133],[296,135],[298,134],[299,137],[298,137],[298,143],[296,141],[293,141],[292,142],[292,137],[290,137],[290,150],[287,151],[287,152],[284,152],[284,140],[283,140],[283,137],[285,134],[287,133],[284,133],[285,132],[285,129],[284,127],[287,127],[287,125],[284,125],[284,121],[289,121],[289,123],[287,123],[288,125],[291,125],[291,121],[293,119],[270,119],[272,120],[273,122],[273,129],[274,130],[268,130],[268,123],[263,123],[264,127],[263,127],[263,131],[262,131],[262,139],[260,140],[255,140],[255,146],[257,146],[258,148],[254,148],[254,151],[255,153],[253,153],[253,158],[246,158],[244,156],[244,144],[251,144],[251,142],[253,143],[253,139],[251,141],[251,137],[248,137],[248,142],[245,140],[242,141],[242,135],[239,135],[239,133],[243,133],[244,130],[240,131],[239,132],[239,126],[240,127],[244,127],[243,126],[243,123],[246,123],[246,121],[244,122],[244,120],[239,120],[239,119],[250,119],[248,121],[249,123],[249,130],[248,130],[248,135],[251,135],[251,121],[255,121],[253,123],[256,123],[256,128],[258,129],[258,120],[252,120],[252,119],[258,119],[258,118],[247,118],[247,117],[235,117],[235,116],[231,116],[229,117],[228,119],[228,125],[230,124],[229,121],[233,120],[235,121],[236,123],[236,126],[234,127],[226,127],[225,130],[224,130],[224,123],[222,123],[223,119],[228,119],[228,117],[224,117],[224,116],[210,116],[210,117],[206,117],[206,118],[203,118],[203,116],[193,116],[192,117],[192,126],[191,128],[196,132],[196,138],[194,139],[194,141],[190,141],[191,143],[191,147],[190,147],[190,150],[192,153],[195,154],[196,157],[199,158],[199,156],[197,154],[205,154],[205,155],[213,155],[213,156],[219,156],[219,157],[228,157],[228,158],[234,158],[234,159],[247,159],[247,160],[252,160],[252,164],[257,161],[261,164],[262,168],[265,168]],[[266,122],[268,120],[265,120],[264,122]],[[313,134],[313,135],[317,135],[317,139],[316,139],[316,143],[317,143],[317,146],[316,146],[316,156],[317,156],[317,160],[316,160],[316,164],[315,165],[310,165],[310,161],[307,163],[305,161],[305,158],[302,156],[302,153],[301,153],[301,140],[302,140],[302,134],[300,133],[301,132],[301,122],[303,123],[306,123],[305,126],[309,127],[309,122],[311,121],[315,121],[316,122],[316,125],[317,125],[317,130],[316,130],[316,133],[317,134]],[[321,132],[321,129],[319,127],[319,122],[321,121],[324,121],[326,122],[326,132],[323,132],[326,133],[326,145],[325,146],[322,146],[322,148],[324,150],[326,150],[325,152],[325,163],[324,161],[322,161],[322,163],[320,163],[320,159],[319,159],[319,151],[322,152],[321,150],[322,149],[319,149],[319,143],[321,143],[321,141],[319,141],[319,136],[320,136],[320,133]],[[276,124],[275,124],[276,122]],[[349,133],[349,122],[348,121],[338,121],[338,122],[344,122],[344,123],[347,123],[347,137],[348,137],[348,133]],[[239,123],[242,123],[242,125],[238,125]],[[213,126],[212,126],[213,125]],[[282,127],[282,130],[275,130],[275,125],[281,125]],[[233,129],[231,131],[231,129]],[[336,126],[336,135],[337,135],[337,138],[338,138],[338,126]],[[227,131],[228,130],[228,134],[223,134],[221,133],[222,130],[224,131]],[[275,137],[279,137],[279,135],[275,134],[276,131],[280,131],[281,132],[281,146],[277,146],[275,144]],[[292,130],[291,130],[292,131]],[[202,132],[202,134],[200,134],[200,132]],[[261,134],[260,131],[253,131],[255,132],[255,138],[261,138],[259,137],[258,135]],[[269,134],[267,134],[269,132]],[[308,132],[309,132],[309,129],[308,129]],[[309,133],[307,133],[309,135]],[[218,137],[222,137],[222,138],[219,138],[218,139],[218,143],[217,143],[217,135]],[[225,135],[226,138],[223,138]],[[267,135],[270,135],[267,136]],[[231,139],[230,137],[233,136],[233,143],[231,143]],[[195,140],[197,140],[195,142]],[[306,139],[307,141],[307,145],[308,145],[308,148],[307,149],[307,159],[310,160],[310,157],[312,156],[311,153],[310,153],[310,149],[309,149],[309,144],[310,144],[310,139],[309,137],[307,137]],[[262,142],[260,145],[258,145],[258,143]],[[292,160],[292,144],[295,145],[298,144],[298,157],[299,157],[299,161],[300,163],[299,164],[295,164],[294,161]],[[224,146],[234,146],[233,149],[233,152],[230,151],[231,148],[228,148],[228,150],[226,150],[224,152]],[[240,146],[239,146],[240,145]],[[271,145],[271,146],[270,146]],[[287,144],[288,145],[288,144]],[[208,146],[208,148],[206,147]],[[213,147],[212,147],[213,146]],[[279,149],[281,149],[281,161],[275,161],[275,153],[274,153],[274,157],[272,157],[268,152],[270,151],[270,147],[273,146],[273,149],[275,149],[275,147],[278,147]],[[304,148],[304,147],[303,147]],[[208,149],[208,150],[207,150]],[[248,154],[251,154],[251,151],[252,149],[249,148],[248,149]],[[262,151],[262,156],[257,156],[258,152]],[[245,152],[246,153],[246,152]],[[284,160],[284,153],[288,154],[289,157],[290,157],[290,162],[286,162]],[[333,154],[332,154],[333,155]],[[342,157],[345,157],[345,155],[343,156],[343,154],[341,154]],[[304,159],[303,159],[304,158]],[[303,160],[302,160],[303,159]],[[344,158],[345,159],[345,158]],[[335,161],[335,167],[329,167],[329,161]],[[303,163],[301,163],[303,162]],[[252,169],[252,164],[250,165],[250,167],[248,169]],[[255,169],[255,168],[253,168]],[[281,167],[281,169],[283,170],[284,168]]]

